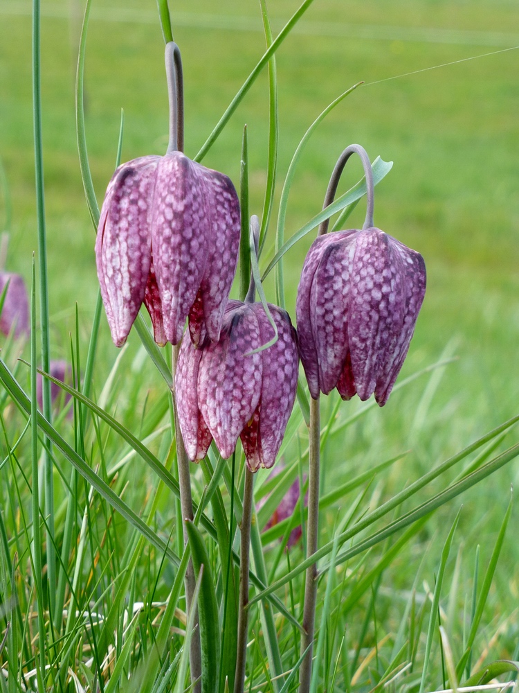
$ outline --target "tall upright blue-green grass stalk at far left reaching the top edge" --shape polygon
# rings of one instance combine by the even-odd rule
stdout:
[[[42,368],[46,373],[51,370],[48,330],[48,281],[47,281],[47,246],[45,230],[45,196],[42,147],[42,89],[40,69],[40,32],[39,32],[39,0],[33,0],[33,127],[36,179],[36,211],[38,225],[38,260],[39,260],[39,292],[40,292],[40,323],[42,326]],[[43,378],[43,411],[49,423],[52,422],[51,411],[51,382]],[[44,441],[44,487],[45,511],[47,516],[47,578],[48,599],[51,613],[55,611],[56,596],[56,558],[54,549],[54,484],[51,441]]]

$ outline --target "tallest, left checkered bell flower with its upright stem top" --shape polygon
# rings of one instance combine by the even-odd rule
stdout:
[[[125,343],[145,304],[158,344],[178,344],[185,319],[195,344],[217,340],[233,283],[240,234],[233,183],[180,151],[181,70],[166,46],[170,146],[164,157],[122,164],[104,198],[95,256],[113,342]],[[180,119],[180,123],[179,123]]]

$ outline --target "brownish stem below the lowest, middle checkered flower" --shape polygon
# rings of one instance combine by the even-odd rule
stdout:
[[[234,693],[244,692],[245,663],[247,659],[248,632],[248,570],[250,565],[251,519],[253,516],[254,475],[245,469],[244,505],[239,560],[239,611],[238,611],[238,648],[236,656],[236,674]]]

